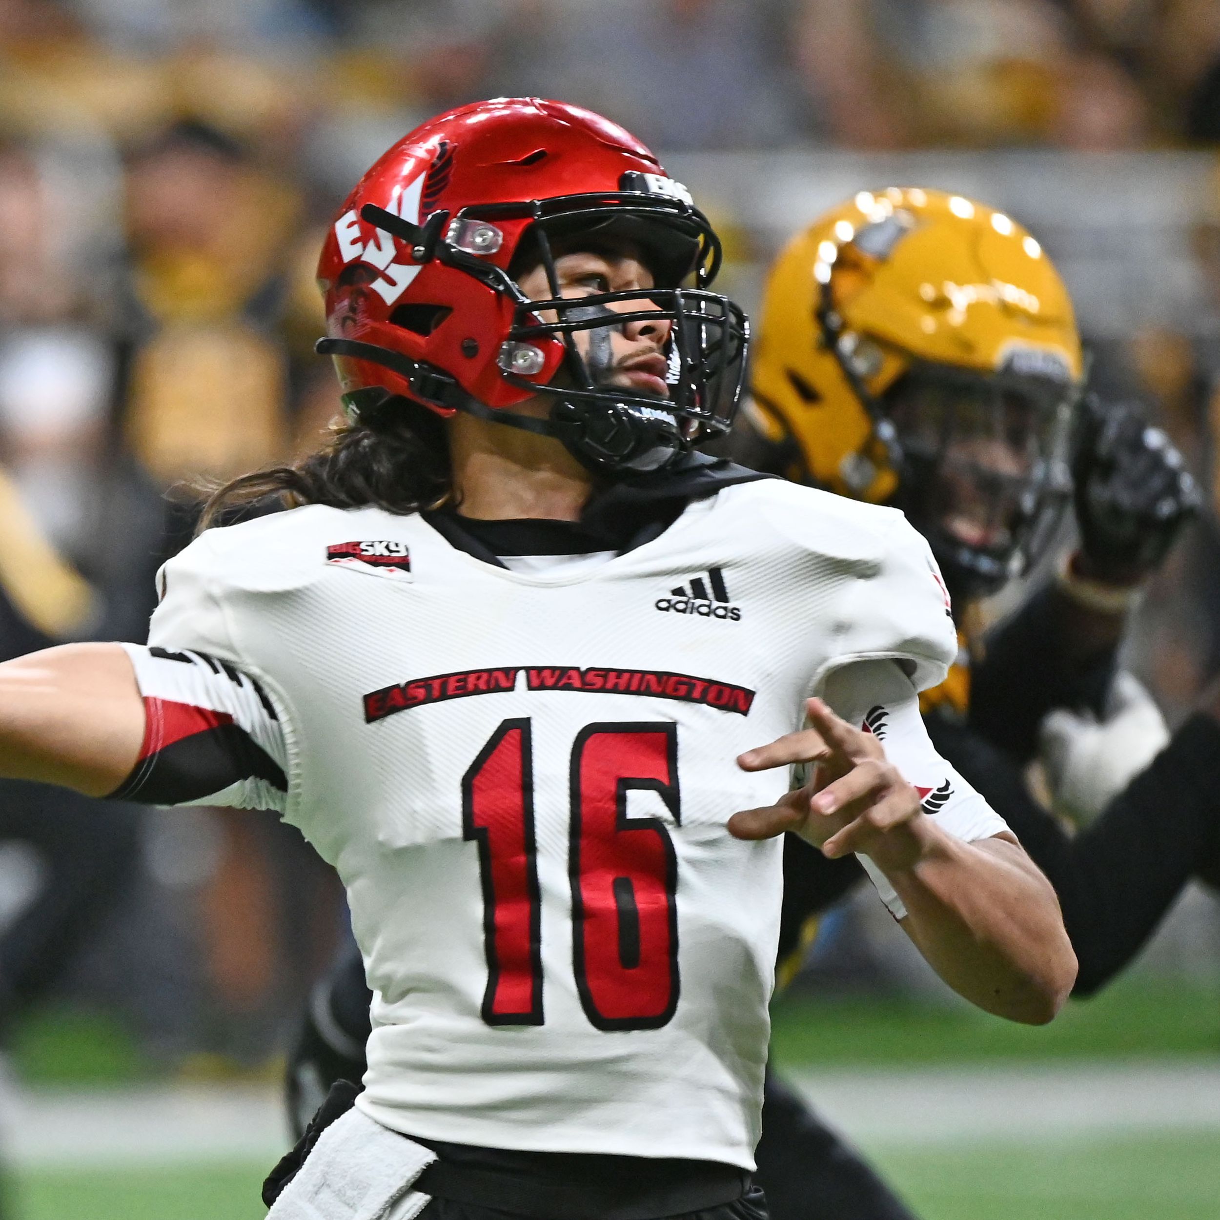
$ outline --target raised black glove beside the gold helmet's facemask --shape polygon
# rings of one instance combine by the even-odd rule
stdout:
[[[1141,581],[1199,510],[1199,490],[1182,455],[1131,404],[1085,396],[1071,473],[1081,553],[1099,581]]]

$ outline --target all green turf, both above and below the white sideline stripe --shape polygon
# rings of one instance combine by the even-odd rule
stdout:
[[[956,1006],[816,1000],[792,993],[775,1009],[775,1054],[787,1071],[853,1065],[872,1071],[1047,1060],[1174,1060],[1220,1054],[1220,993],[1131,977],[1074,1003],[1047,1028]],[[13,1059],[30,1083],[146,1081],[129,1035],[96,1017],[49,1013],[20,1033]],[[1037,1142],[894,1143],[867,1149],[922,1220],[1218,1220],[1220,1133],[1149,1132]],[[261,1220],[268,1165],[27,1169],[7,1193],[12,1220]],[[7,1202],[7,1200],[5,1200]]]

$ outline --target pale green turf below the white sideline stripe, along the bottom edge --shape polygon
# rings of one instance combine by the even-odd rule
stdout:
[[[1220,1137],[871,1149],[924,1220],[1215,1220]],[[17,1220],[260,1220],[265,1168],[29,1172]]]

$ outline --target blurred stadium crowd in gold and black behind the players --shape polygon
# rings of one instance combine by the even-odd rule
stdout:
[[[337,203],[422,118],[505,94],[588,105],[676,161],[1207,149],[1220,0],[0,0],[0,658],[144,638],[200,481],[303,453],[334,416],[312,274]],[[742,204],[766,189],[708,200],[747,306],[787,235]],[[1220,300],[1220,195],[1199,211],[1190,256]],[[1136,637],[1171,717],[1220,664],[1213,317],[1097,344],[1102,388],[1213,489]],[[337,883],[270,816],[107,816],[138,866],[57,899],[88,899],[90,930],[109,899],[100,941],[61,977],[32,933],[0,953],[0,998],[68,983],[167,1059],[261,1063],[343,935]],[[10,928],[62,847],[15,842]]]

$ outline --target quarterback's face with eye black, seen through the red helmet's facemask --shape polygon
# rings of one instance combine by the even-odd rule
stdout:
[[[653,273],[631,246],[605,250],[572,249],[555,257],[555,279],[559,295],[571,300],[601,293],[645,293],[654,287]],[[537,266],[518,281],[522,292],[534,300],[547,300],[551,288],[545,268]],[[669,398],[665,381],[667,361],[665,348],[671,323],[662,317],[614,321],[615,314],[648,314],[659,307],[647,298],[610,301],[590,306],[605,315],[604,326],[575,331],[576,349],[598,386],[620,386],[633,394]],[[551,310],[540,310],[544,321],[554,322]],[[577,321],[580,311],[566,311],[566,318]]]

